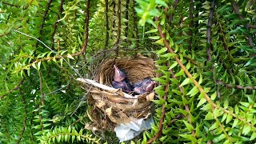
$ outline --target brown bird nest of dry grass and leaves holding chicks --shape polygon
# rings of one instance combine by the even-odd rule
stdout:
[[[114,130],[114,126],[127,123],[134,118],[150,118],[153,111],[154,91],[132,96],[114,89],[114,65],[125,70],[130,82],[135,83],[143,78],[155,78],[154,60],[139,56],[137,58],[116,58],[102,62],[96,81],[84,79],[87,91],[88,114],[98,128]],[[81,80],[80,80],[81,81]]]

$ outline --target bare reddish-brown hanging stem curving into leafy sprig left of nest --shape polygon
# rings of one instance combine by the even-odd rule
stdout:
[[[86,33],[85,33],[85,41],[82,44],[82,50],[79,52],[84,54],[86,51],[87,43],[88,43],[88,36],[89,36],[89,14],[90,14],[90,0],[87,0],[86,4]],[[79,54],[78,54],[79,55]]]

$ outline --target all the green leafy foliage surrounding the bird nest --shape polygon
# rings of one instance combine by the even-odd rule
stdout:
[[[255,142],[256,2],[136,2],[0,2],[1,143],[111,143],[84,130],[76,78],[136,53],[156,54],[161,75],[154,125],[138,143]]]

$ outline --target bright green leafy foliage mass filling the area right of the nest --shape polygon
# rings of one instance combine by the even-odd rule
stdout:
[[[254,143],[255,1],[137,2],[161,47],[156,123],[144,142]]]

